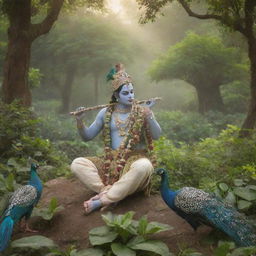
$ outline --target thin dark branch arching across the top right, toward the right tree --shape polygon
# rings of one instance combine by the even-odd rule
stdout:
[[[198,19],[203,19],[203,20],[206,20],[206,19],[214,19],[214,20],[218,20],[220,21],[222,24],[228,26],[228,27],[231,27],[233,28],[234,30],[237,30],[239,31],[240,33],[242,33],[243,35],[246,34],[246,31],[245,31],[245,28],[243,28],[242,26],[242,22],[243,21],[242,19],[239,19],[239,21],[233,23],[233,24],[230,24],[229,22],[227,22],[227,19],[225,19],[223,16],[221,15],[216,15],[216,14],[210,14],[210,13],[207,13],[207,14],[198,14],[198,13],[195,13],[191,10],[190,6],[188,5],[188,3],[185,1],[185,0],[177,0],[181,5],[182,7],[184,8],[184,10],[187,12],[187,14],[191,17],[195,17],[195,18],[198,18]],[[250,0],[248,0],[250,1]],[[256,0],[253,0],[253,1],[256,1]]]

